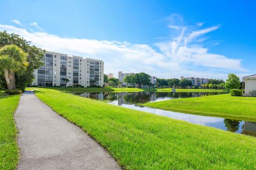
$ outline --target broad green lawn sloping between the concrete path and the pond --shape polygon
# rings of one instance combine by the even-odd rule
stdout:
[[[39,89],[36,96],[81,127],[125,169],[255,169],[256,138]]]

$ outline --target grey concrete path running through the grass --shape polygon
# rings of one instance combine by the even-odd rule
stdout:
[[[15,112],[18,169],[121,169],[83,130],[26,91]]]

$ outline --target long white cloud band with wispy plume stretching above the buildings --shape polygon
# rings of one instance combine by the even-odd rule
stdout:
[[[39,27],[37,23],[31,25]],[[198,25],[202,26],[197,24],[197,28]],[[159,78],[179,78],[185,75],[225,79],[230,71],[245,71],[240,60],[211,54],[203,45],[197,44],[197,37],[218,29],[218,26],[193,31],[189,27],[175,24],[169,27],[179,34],[169,41],[157,43],[155,49],[146,44],[126,41],[63,38],[0,24],[0,30],[17,33],[46,50],[103,60],[105,73],[112,72],[115,76],[118,71],[124,71],[146,72]]]

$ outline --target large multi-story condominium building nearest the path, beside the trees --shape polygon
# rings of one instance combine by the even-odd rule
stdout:
[[[45,65],[34,72],[34,86],[103,86],[101,60],[46,52]]]

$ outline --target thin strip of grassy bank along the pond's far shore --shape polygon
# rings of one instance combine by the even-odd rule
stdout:
[[[42,87],[40,87],[42,88]],[[140,92],[140,91],[152,91],[152,92],[172,92],[172,88],[77,88],[77,87],[45,87],[46,89],[55,89],[65,92]],[[222,92],[223,90],[214,89],[176,89],[177,92]]]

